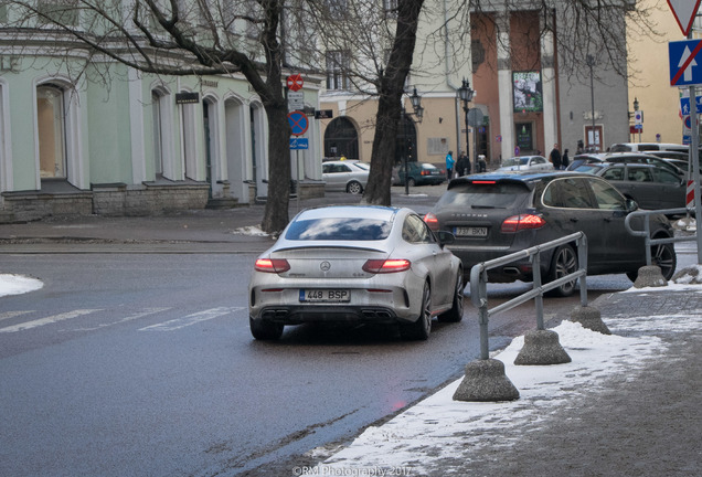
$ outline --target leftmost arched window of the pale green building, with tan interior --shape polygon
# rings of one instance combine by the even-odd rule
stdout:
[[[67,178],[66,107],[64,91],[55,85],[36,88],[39,163],[42,179]]]

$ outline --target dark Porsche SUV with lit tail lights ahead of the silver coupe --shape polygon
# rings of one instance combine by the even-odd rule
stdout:
[[[636,202],[625,199],[611,184],[593,174],[488,173],[454,179],[424,220],[433,230],[455,235],[449,248],[462,261],[467,275],[480,262],[582,231],[587,235],[589,275],[626,273],[636,279],[639,267],[646,265],[645,242],[630,235],[624,224],[636,209]],[[636,229],[642,230],[638,220],[632,222]],[[651,236],[672,235],[668,220],[655,215]],[[673,245],[656,245],[651,256],[663,276],[672,277],[677,266]],[[541,266],[544,282],[574,272],[577,268],[575,246],[544,252]],[[531,282],[532,268],[524,259],[496,268],[488,276],[491,282]],[[567,296],[574,288],[575,283],[568,283],[554,294]]]

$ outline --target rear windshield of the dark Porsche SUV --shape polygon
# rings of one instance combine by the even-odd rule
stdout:
[[[437,206],[509,209],[529,197],[526,186],[518,183],[466,183],[453,187]]]

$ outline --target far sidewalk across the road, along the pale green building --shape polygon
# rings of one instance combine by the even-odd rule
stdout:
[[[405,189],[393,187],[392,204],[428,212],[446,184]],[[327,204],[359,203],[360,195],[328,193],[320,199],[290,199],[289,216]],[[252,231],[264,215],[264,204],[226,210],[191,210],[155,216],[72,216],[0,224],[0,253],[244,253],[263,252],[274,242]],[[258,231],[259,232],[259,231]],[[76,251],[76,244],[81,244]]]

